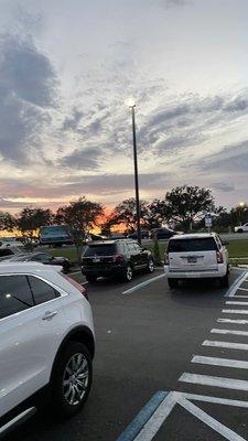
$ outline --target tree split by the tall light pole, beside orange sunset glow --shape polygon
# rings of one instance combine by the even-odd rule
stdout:
[[[134,197],[122,201],[116,206],[112,220],[116,224],[125,224],[127,232],[134,232],[137,229],[137,208]],[[144,201],[140,201],[140,223],[141,226],[148,225],[149,205]],[[114,225],[114,224],[112,224]]]

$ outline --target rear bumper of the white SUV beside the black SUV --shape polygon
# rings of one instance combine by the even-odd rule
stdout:
[[[224,263],[219,263],[216,270],[202,270],[202,271],[179,271],[171,270],[169,265],[164,265],[164,273],[170,279],[214,279],[225,277],[227,267]]]

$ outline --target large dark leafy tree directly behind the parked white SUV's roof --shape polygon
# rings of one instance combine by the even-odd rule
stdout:
[[[171,219],[179,222],[185,229],[192,229],[207,212],[215,212],[215,201],[211,190],[182,185],[165,194],[165,205]]]

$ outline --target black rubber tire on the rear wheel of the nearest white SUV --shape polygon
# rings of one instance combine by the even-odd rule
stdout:
[[[82,397],[79,399],[79,396],[77,396],[77,392],[75,392],[75,387],[78,387],[77,385],[75,386],[74,384],[72,385],[66,385],[64,386],[63,383],[67,381],[67,376],[69,375],[66,370],[69,362],[72,358],[75,356],[77,357],[78,355],[82,355],[82,359],[84,363],[86,363],[86,369],[88,372],[87,379],[85,380],[85,390],[82,391]],[[71,365],[69,365],[71,366]],[[85,372],[83,370],[82,374],[78,375],[84,375]],[[52,375],[52,381],[51,381],[51,387],[52,387],[52,396],[51,396],[51,405],[53,407],[54,412],[56,413],[57,417],[73,417],[75,413],[77,413],[85,405],[88,394],[90,390],[91,386],[91,380],[93,380],[93,364],[91,364],[91,356],[87,349],[87,347],[83,343],[77,343],[77,342],[71,342],[66,345],[66,347],[63,349],[61,353],[56,365],[53,370]],[[78,381],[77,377],[75,379],[72,379],[72,381]],[[79,380],[82,383],[82,380]],[[68,388],[72,387],[75,392],[75,402],[69,404],[69,399],[72,398],[72,394],[68,395],[66,398],[66,392],[68,391]],[[82,386],[80,386],[82,387]],[[78,402],[76,402],[76,399]]]

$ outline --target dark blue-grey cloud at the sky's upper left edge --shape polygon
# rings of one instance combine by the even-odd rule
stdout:
[[[55,106],[56,75],[31,39],[0,36],[0,155],[17,165],[42,157],[41,133]]]

